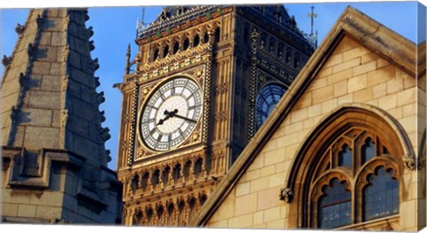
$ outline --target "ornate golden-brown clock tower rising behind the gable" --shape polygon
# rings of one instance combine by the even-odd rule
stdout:
[[[283,5],[166,7],[136,43],[117,84],[124,223],[185,226],[313,47]]]

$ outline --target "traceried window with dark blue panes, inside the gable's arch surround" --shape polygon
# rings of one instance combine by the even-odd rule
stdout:
[[[324,149],[311,178],[311,228],[345,228],[399,214],[399,169],[389,148],[374,132],[350,128]]]

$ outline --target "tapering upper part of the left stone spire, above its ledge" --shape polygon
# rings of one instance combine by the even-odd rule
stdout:
[[[3,145],[65,149],[107,166],[104,97],[94,77],[100,65],[87,19],[86,10],[35,9],[17,25],[18,42],[2,59]]]

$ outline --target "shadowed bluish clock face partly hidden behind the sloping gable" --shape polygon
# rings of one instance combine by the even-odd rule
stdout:
[[[261,89],[256,98],[256,124],[258,128],[278,104],[286,89],[278,84],[270,84]]]

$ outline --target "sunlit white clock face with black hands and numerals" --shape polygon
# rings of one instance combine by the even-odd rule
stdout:
[[[188,78],[165,82],[143,106],[140,132],[144,144],[154,151],[168,151],[183,143],[200,119],[202,94]]]

